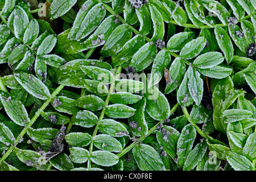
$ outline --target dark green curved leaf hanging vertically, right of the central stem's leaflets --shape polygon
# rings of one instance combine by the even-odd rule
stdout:
[[[146,99],[142,98],[141,101],[131,105],[136,109],[136,113],[129,118],[129,125],[133,134],[137,137],[146,136],[148,132],[147,123],[144,116],[146,108]],[[135,123],[135,126],[133,125]]]

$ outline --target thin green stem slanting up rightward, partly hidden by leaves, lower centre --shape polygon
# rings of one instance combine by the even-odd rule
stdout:
[[[177,107],[179,107],[179,103],[177,103],[174,107],[172,107],[172,109],[170,111],[170,116],[175,112],[175,110],[177,110]],[[164,122],[164,120],[165,119],[163,119],[163,121],[159,121],[155,126],[153,126],[148,131],[147,135],[140,137],[139,140],[143,141],[144,139],[146,139],[149,135],[151,135],[156,130],[156,127],[158,127],[160,125],[160,123]],[[136,144],[137,144],[137,142],[133,142],[128,147],[124,148],[120,153],[117,154],[118,158],[121,158],[123,155],[125,155],[127,152],[129,152],[133,147],[135,147]]]

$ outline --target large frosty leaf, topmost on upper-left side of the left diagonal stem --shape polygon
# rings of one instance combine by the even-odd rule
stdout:
[[[32,94],[32,96],[41,100],[47,100],[51,97],[47,86],[34,75],[25,72],[16,72],[14,76],[19,84],[22,85],[28,93]]]

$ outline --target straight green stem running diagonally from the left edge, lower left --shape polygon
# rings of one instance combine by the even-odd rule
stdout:
[[[5,155],[3,155],[2,159],[0,160],[0,164],[2,164],[3,161],[11,154],[13,151],[13,148],[19,143],[19,140],[22,139],[24,134],[27,133],[27,130],[34,124],[36,119],[43,113],[43,110],[46,109],[46,107],[49,105],[49,103],[52,101],[52,99],[57,96],[57,94],[64,88],[64,85],[60,85],[52,94],[51,97],[48,98],[46,102],[42,105],[42,107],[35,113],[34,117],[31,119],[31,121],[28,123],[26,127],[21,131],[19,136],[16,138],[15,142],[12,144],[12,146],[9,148],[9,150],[6,151]]]

